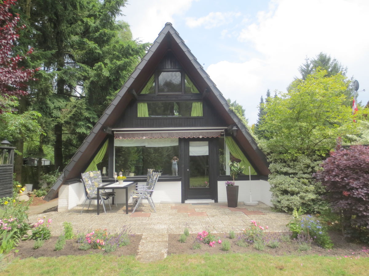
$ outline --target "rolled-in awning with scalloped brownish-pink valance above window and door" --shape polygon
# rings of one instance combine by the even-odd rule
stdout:
[[[224,130],[127,131],[114,132],[115,139],[220,137]]]

